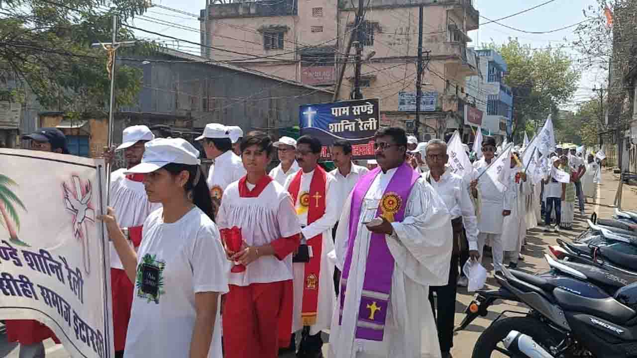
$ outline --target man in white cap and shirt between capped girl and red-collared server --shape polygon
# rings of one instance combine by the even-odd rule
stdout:
[[[206,124],[203,134],[196,138],[202,141],[206,157],[212,159],[215,165],[208,173],[208,188],[212,197],[213,206],[218,208],[225,187],[230,183],[240,180],[245,175],[245,168],[241,158],[232,151],[230,130],[225,125],[218,123]],[[215,210],[216,211],[216,210]]]

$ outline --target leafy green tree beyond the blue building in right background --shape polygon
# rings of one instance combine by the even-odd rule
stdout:
[[[505,84],[513,90],[513,136],[524,137],[522,131],[536,132],[550,113],[569,102],[577,90],[580,72],[559,48],[534,49],[517,39],[486,48],[499,52],[506,62]],[[530,125],[529,125],[530,124]]]

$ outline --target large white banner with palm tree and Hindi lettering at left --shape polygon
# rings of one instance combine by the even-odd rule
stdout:
[[[114,356],[104,161],[0,149],[0,319],[38,320],[74,358]]]

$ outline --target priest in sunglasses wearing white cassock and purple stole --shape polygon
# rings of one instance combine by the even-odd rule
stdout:
[[[378,168],[362,176],[336,231],[343,272],[330,357],[440,357],[430,285],[445,285],[452,227],[445,203],[404,156],[403,129],[376,132]]]

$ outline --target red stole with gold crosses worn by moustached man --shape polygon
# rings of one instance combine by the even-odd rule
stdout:
[[[299,196],[301,187],[301,175],[303,170],[298,173],[290,182],[288,191],[292,196],[292,203],[296,206],[296,199]],[[325,214],[325,186],[327,176],[323,168],[316,166],[310,182],[309,205],[308,205],[308,225],[315,222]],[[323,245],[323,235],[318,234],[313,238],[307,238],[308,246],[312,248],[312,257],[310,262],[305,264],[305,272],[303,275],[303,305],[301,306],[301,318],[303,326],[312,326],[317,322],[317,304],[318,304],[318,277],[320,274],[320,259]]]

